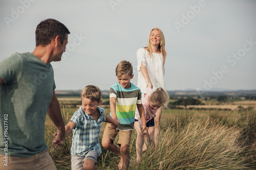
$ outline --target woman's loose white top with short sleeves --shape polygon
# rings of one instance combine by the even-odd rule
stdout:
[[[141,63],[146,67],[148,77],[150,77],[150,81],[153,85],[153,91],[155,91],[158,87],[162,87],[165,90],[164,64],[162,54],[153,53],[153,57],[150,57],[144,48],[139,48],[137,51],[137,63],[137,86],[140,88],[141,92],[146,93],[146,81],[141,73]]]

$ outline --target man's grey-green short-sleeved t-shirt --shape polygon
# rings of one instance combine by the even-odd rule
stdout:
[[[32,53],[15,53],[0,63],[0,77],[0,154],[29,157],[45,151],[45,119],[55,89],[52,65]]]

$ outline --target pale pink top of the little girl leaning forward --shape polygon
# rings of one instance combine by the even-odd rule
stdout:
[[[155,114],[158,110],[158,109],[156,109],[156,110],[152,109],[150,107],[150,103],[148,102],[148,98],[150,97],[150,95],[152,93],[153,93],[152,88],[147,87],[146,88],[146,94],[145,93],[141,94],[141,101],[142,101],[142,104],[143,104],[143,107],[144,107],[146,122],[148,122],[148,120],[151,120],[153,118],[153,116],[155,116]],[[138,111],[137,107],[136,107],[136,110],[135,110],[135,119],[139,120],[140,128],[142,128],[142,122],[141,122],[140,114],[139,114],[139,111]]]

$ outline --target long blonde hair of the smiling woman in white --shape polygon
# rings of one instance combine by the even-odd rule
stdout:
[[[152,53],[152,48],[151,48],[151,43],[150,43],[150,36],[153,30],[158,30],[160,33],[160,44],[158,46],[158,50],[162,53],[163,55],[163,64],[165,62],[165,58],[166,58],[166,51],[165,51],[165,40],[164,40],[164,35],[163,32],[159,29],[159,28],[153,28],[150,32],[150,35],[148,36],[148,42],[147,42],[147,52],[148,54],[150,54],[150,57],[153,57],[153,53]]]

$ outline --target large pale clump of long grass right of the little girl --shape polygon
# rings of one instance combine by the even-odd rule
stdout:
[[[168,127],[157,150],[146,152],[136,169],[247,169],[250,159],[236,143],[235,128],[209,123],[207,117],[184,128]]]

